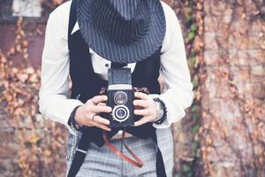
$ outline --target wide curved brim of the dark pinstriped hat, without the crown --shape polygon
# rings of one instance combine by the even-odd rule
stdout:
[[[116,63],[134,63],[150,57],[162,46],[165,35],[165,17],[159,0],[148,0],[151,22],[148,34],[130,45],[120,45],[100,34],[92,25],[91,14],[87,12],[93,0],[79,0],[77,19],[81,35],[88,46],[102,58]]]

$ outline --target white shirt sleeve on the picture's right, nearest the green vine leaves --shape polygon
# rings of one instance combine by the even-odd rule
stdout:
[[[175,12],[168,10],[165,12],[168,27],[163,41],[160,70],[168,89],[161,95],[151,95],[163,100],[168,113],[163,124],[153,124],[156,128],[170,127],[171,123],[182,119],[186,115],[186,108],[193,103],[193,84],[181,28]]]

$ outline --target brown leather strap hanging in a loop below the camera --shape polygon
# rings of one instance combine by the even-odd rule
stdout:
[[[122,142],[125,145],[126,150],[128,150],[128,152],[133,156],[134,160],[132,158],[127,157],[125,154],[123,154],[121,151],[117,150],[117,148],[115,148],[110,142],[109,139],[107,138],[106,135],[106,131],[103,131],[103,140],[105,142],[105,144],[110,148],[110,150],[112,152],[114,152],[115,154],[117,154],[118,157],[125,159],[127,162],[129,162],[132,165],[135,165],[137,167],[141,167],[142,161],[140,160],[140,158],[137,157],[137,155],[135,155],[133,153],[132,150],[130,150],[130,148],[127,146],[127,144],[124,141],[125,138],[125,129],[123,129],[123,135],[122,135]]]

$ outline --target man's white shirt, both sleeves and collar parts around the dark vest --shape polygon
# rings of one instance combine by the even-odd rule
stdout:
[[[163,39],[160,73],[169,86],[159,97],[166,104],[167,119],[156,128],[170,127],[186,115],[186,108],[193,102],[193,84],[186,61],[186,51],[181,28],[175,12],[167,4],[163,4],[166,18],[166,33]],[[49,119],[60,122],[69,128],[67,121],[72,110],[83,103],[77,99],[68,98],[69,90],[69,51],[68,51],[68,20],[71,1],[61,4],[49,14],[46,27],[45,43],[42,53],[42,86],[39,92],[39,111]],[[75,24],[72,33],[79,30]],[[95,51],[90,50],[92,65],[95,73],[107,79],[110,61],[100,57]],[[106,65],[107,64],[107,65]],[[135,63],[128,67],[134,69]]]

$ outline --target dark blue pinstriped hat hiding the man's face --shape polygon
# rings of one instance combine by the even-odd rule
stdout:
[[[148,58],[165,35],[160,0],[78,0],[77,19],[88,46],[115,63]]]

